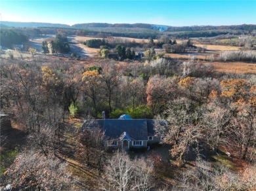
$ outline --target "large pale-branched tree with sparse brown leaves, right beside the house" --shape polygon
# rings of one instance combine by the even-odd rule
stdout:
[[[190,99],[175,99],[169,102],[163,113],[167,116],[167,131],[156,129],[165,143],[173,145],[170,150],[171,156],[177,157],[180,161],[184,160],[184,154],[190,146],[202,139],[200,112],[202,111],[194,109],[194,103]]]

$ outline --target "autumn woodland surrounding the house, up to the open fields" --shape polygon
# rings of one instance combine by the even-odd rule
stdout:
[[[196,190],[253,190],[255,83],[254,74],[217,74],[211,63],[200,65],[193,60],[160,58],[147,64],[88,60],[85,64],[61,58],[3,59],[1,111],[11,114],[26,136],[22,141],[26,147],[14,148],[12,152],[18,150],[18,154],[11,166],[4,163],[7,170],[1,181],[10,182],[12,188],[32,190],[78,189],[78,184],[89,190],[189,190],[191,186]],[[102,147],[104,135],[99,130],[84,133],[72,125],[75,117],[101,118],[102,111],[108,118],[127,113],[133,118],[166,119],[168,128],[156,127],[156,131],[171,145],[171,163],[161,162],[160,156],[144,158],[144,154],[131,160],[125,153]],[[69,139],[72,135],[77,142]],[[6,147],[7,139],[1,139]],[[228,159],[224,164],[213,162],[219,156]],[[89,179],[69,175],[70,159],[87,164],[88,171],[98,177],[90,181],[100,181],[99,187],[85,183]],[[195,168],[184,167],[193,160]],[[236,162],[244,168],[231,164]],[[113,166],[119,163],[129,164],[125,166],[129,169]],[[163,170],[165,166],[169,171]],[[119,175],[112,174],[116,170]],[[117,182],[115,177],[120,175],[123,180]],[[171,183],[167,177],[176,181]],[[141,186],[137,181],[143,181],[143,188],[136,187]]]

